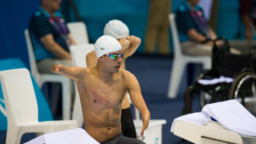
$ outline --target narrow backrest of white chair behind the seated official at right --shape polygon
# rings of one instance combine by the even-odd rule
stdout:
[[[178,28],[176,26],[176,20],[175,20],[175,14],[170,13],[169,14],[169,23],[170,23],[170,29],[172,32],[172,42],[174,47],[174,56],[183,55],[181,52],[181,46],[180,46],[180,38],[178,33]]]

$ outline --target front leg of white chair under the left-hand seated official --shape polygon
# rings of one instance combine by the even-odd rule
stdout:
[[[72,83],[67,78],[65,83],[62,83],[62,119],[69,120],[71,112],[71,97],[72,97]]]

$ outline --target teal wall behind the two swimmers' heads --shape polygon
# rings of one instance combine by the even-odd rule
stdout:
[[[109,20],[123,21],[130,30],[130,35],[141,38],[137,52],[142,53],[144,35],[148,18],[148,0],[73,0],[82,20],[85,22],[90,41],[95,43],[103,35],[103,29]],[[71,21],[76,21],[74,12],[69,9]]]

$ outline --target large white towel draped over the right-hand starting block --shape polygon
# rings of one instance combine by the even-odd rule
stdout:
[[[205,105],[202,112],[216,119],[230,131],[256,136],[256,118],[237,100]]]

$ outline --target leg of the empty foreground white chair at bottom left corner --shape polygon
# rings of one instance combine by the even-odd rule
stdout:
[[[22,134],[19,129],[9,128],[6,134],[6,144],[19,144]]]

